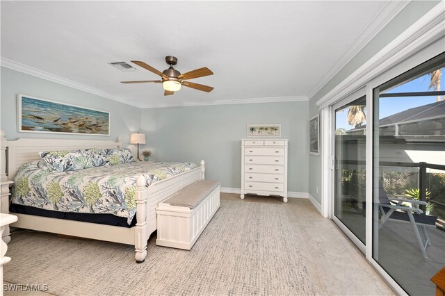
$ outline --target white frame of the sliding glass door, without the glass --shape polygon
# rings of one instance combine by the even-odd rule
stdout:
[[[442,13],[444,12],[444,8],[441,8]],[[437,11],[435,11],[437,13]],[[437,19],[434,19],[437,21]],[[371,266],[378,271],[378,273],[382,276],[385,281],[394,289],[394,291],[398,295],[407,295],[405,290],[398,285],[398,283],[392,279],[391,276],[380,267],[379,263],[374,260],[372,250],[373,250],[373,220],[372,220],[372,204],[373,204],[373,89],[393,79],[394,77],[406,72],[421,63],[424,63],[426,60],[441,54],[443,50],[443,44],[445,44],[445,32],[442,29],[441,33],[437,33],[437,25],[445,24],[444,16],[442,15],[442,21],[440,22],[432,22],[430,26],[430,31],[424,33],[424,35],[419,36],[418,39],[411,40],[414,48],[410,48],[409,55],[405,52],[405,55],[401,55],[400,52],[398,54],[394,54],[398,56],[399,60],[394,61],[391,60],[391,63],[384,63],[384,67],[380,69],[379,72],[376,72],[375,75],[369,77],[366,81],[362,81],[364,84],[356,84],[359,85],[355,87],[355,90],[365,90],[366,94],[366,126],[371,127],[366,129],[366,243],[364,246],[364,256],[366,260],[369,261]],[[420,30],[423,31],[423,30]],[[419,41],[417,43],[416,41]],[[406,45],[406,47],[409,47]],[[402,56],[402,57],[401,57]],[[380,64],[382,66],[382,64]],[[358,83],[358,81],[356,81]],[[329,100],[329,104],[326,106],[325,103],[318,104],[321,107],[321,135],[323,138],[321,145],[321,170],[322,170],[322,199],[321,199],[321,209],[322,215],[324,217],[329,217],[332,220],[334,217],[334,172],[333,172],[333,164],[332,158],[334,152],[334,106],[337,106],[338,102],[343,102],[342,105],[346,104],[348,101],[353,101],[354,99],[358,99],[359,96],[355,94],[357,91],[349,92],[348,95],[340,97],[339,99]],[[348,99],[351,95],[354,97]],[[337,97],[334,95],[334,97]],[[337,97],[338,98],[338,97]],[[344,100],[344,101],[343,101]],[[338,220],[338,219],[337,219]],[[339,228],[346,233],[346,236],[350,238],[355,245],[357,245],[358,238],[354,239],[354,235],[348,235],[349,229],[343,229],[343,227],[339,226]],[[352,233],[349,231],[350,234]],[[359,243],[362,243],[358,240]],[[358,243],[358,245],[359,245]]]

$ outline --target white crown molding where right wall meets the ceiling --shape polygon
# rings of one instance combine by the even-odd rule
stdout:
[[[359,54],[362,49],[375,38],[375,36],[382,31],[389,22],[391,22],[398,13],[400,13],[403,8],[410,3],[411,0],[407,1],[388,1],[385,6],[383,6],[371,19],[371,22],[359,33],[359,36],[353,41],[353,43],[348,47],[348,50],[341,56],[339,61],[330,69],[329,72],[321,79],[312,91],[307,94],[307,97],[314,97],[317,92],[319,92],[326,83],[337,75],[343,67],[348,65],[350,60],[352,60],[357,54]]]

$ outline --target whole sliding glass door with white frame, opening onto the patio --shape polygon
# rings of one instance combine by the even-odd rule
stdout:
[[[445,37],[430,24],[317,101],[323,215],[398,295],[435,295],[445,266]]]

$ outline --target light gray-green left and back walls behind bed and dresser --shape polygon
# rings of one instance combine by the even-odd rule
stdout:
[[[17,94],[60,101],[111,113],[111,135],[19,133]],[[0,128],[9,140],[16,138],[122,138],[129,145],[131,132],[147,135],[152,159],[207,163],[207,177],[224,187],[240,188],[241,138],[247,124],[282,124],[282,138],[289,139],[289,190],[307,192],[309,101],[277,104],[241,104],[184,108],[140,109],[95,94],[76,90],[29,74],[1,67]],[[141,128],[143,126],[143,128]],[[135,148],[130,146],[132,149]]]

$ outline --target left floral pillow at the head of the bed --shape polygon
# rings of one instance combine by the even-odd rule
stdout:
[[[57,150],[39,152],[42,160],[58,170],[58,172],[68,172],[83,170],[95,166],[92,156],[84,154],[82,150]]]

